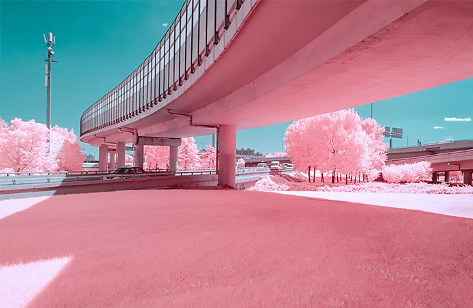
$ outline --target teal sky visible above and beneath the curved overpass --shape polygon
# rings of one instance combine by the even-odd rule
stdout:
[[[119,84],[151,53],[184,1],[0,1],[0,117],[46,119],[43,34],[56,36],[51,125],[80,133],[86,108]],[[357,107],[369,117],[370,105]],[[394,146],[473,138],[473,79],[374,103],[381,125],[404,129]],[[290,123],[237,133],[237,147],[282,150]],[[433,127],[444,127],[433,129]],[[196,138],[197,146],[211,142]],[[97,148],[81,144],[86,153]]]

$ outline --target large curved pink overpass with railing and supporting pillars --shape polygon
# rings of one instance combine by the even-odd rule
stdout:
[[[473,1],[186,0],[149,57],[81,118],[106,157],[117,142],[215,133],[234,186],[237,129],[355,107],[473,77]],[[138,138],[143,138],[140,144]],[[146,138],[162,138],[152,142]],[[101,158],[103,165],[106,158]]]

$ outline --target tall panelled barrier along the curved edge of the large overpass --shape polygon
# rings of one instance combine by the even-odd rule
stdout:
[[[182,86],[219,44],[244,1],[185,0],[151,54],[82,114],[80,135],[141,114]]]

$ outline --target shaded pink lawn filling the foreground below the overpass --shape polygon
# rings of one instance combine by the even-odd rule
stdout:
[[[238,190],[52,196],[2,218],[0,240],[2,288],[38,290],[2,307],[473,303],[473,220],[409,209]]]

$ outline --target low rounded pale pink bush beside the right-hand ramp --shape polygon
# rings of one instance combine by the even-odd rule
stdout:
[[[388,165],[383,168],[383,179],[388,183],[417,183],[432,174],[430,162]]]

